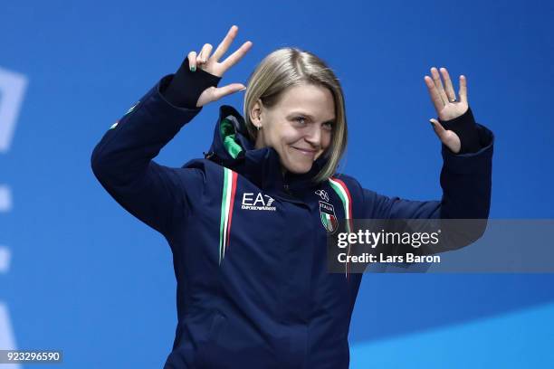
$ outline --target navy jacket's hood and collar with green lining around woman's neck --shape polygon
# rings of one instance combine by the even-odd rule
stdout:
[[[232,106],[223,105],[215,123],[214,139],[205,158],[244,175],[264,190],[311,187],[316,185],[312,178],[327,163],[327,156],[321,155],[313,162],[308,173],[282,175],[279,154],[272,147],[255,148],[248,136],[243,116]]]

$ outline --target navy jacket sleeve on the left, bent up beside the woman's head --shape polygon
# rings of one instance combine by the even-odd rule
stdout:
[[[193,168],[171,168],[153,161],[202,108],[178,108],[161,95],[173,75],[156,86],[100,139],[91,155],[94,175],[129,213],[167,235],[189,209],[187,186],[202,174]]]

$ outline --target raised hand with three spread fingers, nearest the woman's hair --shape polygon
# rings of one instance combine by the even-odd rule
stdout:
[[[233,43],[236,33],[238,33],[238,27],[233,25],[211,56],[210,52],[212,52],[213,47],[209,43],[205,43],[202,50],[198,54],[196,54],[196,52],[189,52],[188,63],[190,70],[196,71],[196,68],[200,68],[203,71],[207,71],[217,77],[222,77],[225,71],[229,70],[229,68],[243,58],[253,44],[250,41],[243,43],[238,50],[229,55],[224,61],[219,62],[231,43]],[[231,83],[223,87],[209,87],[205,89],[198,98],[196,107],[202,107],[209,102],[216,101],[226,95],[230,95],[244,89],[246,89],[246,87],[242,83]]]

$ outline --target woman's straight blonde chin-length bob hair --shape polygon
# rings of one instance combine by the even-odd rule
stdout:
[[[256,140],[257,129],[250,119],[253,105],[262,100],[263,106],[274,107],[284,90],[291,86],[310,83],[330,90],[335,102],[335,123],[333,124],[330,147],[321,155],[328,156],[328,161],[314,176],[317,183],[334,175],[339,161],[347,146],[348,128],[344,95],[339,79],[325,61],[311,52],[295,47],[284,47],[268,54],[248,78],[244,96],[244,121],[248,134]]]

